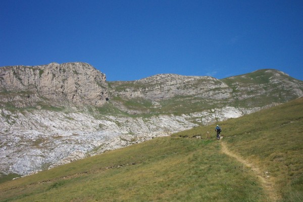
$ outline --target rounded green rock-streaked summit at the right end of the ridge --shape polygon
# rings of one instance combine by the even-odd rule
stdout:
[[[293,87],[288,85],[292,82],[302,83],[302,81],[274,69],[257,70],[243,75],[228,77],[222,79],[222,81],[233,89],[233,96],[236,99],[231,104],[239,107],[262,107],[271,103],[288,102],[297,98],[297,95],[293,94]],[[303,90],[302,87],[298,88]],[[238,97],[243,95],[247,97],[237,100]]]

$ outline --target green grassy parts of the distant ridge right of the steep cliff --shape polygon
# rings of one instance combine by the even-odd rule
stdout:
[[[180,75],[179,75],[180,76]],[[155,80],[153,80],[153,78]],[[167,76],[169,78],[169,76]],[[222,107],[254,108],[264,107],[272,103],[285,103],[299,96],[299,91],[303,90],[303,82],[296,80],[278,70],[262,69],[255,72],[232,76],[217,80],[215,83],[223,82],[220,88],[204,89],[203,86],[209,80],[200,77],[189,82],[182,82],[174,90],[185,90],[181,94],[156,99],[158,105],[153,105],[149,99],[143,98],[143,94],[153,94],[155,86],[162,86],[165,80],[157,79],[157,76],[149,77],[150,82],[138,81],[111,81],[109,91],[110,103],[116,112],[124,112],[137,116],[153,116],[159,114],[190,114]],[[167,84],[167,83],[166,83]],[[173,88],[173,85],[170,86]],[[125,96],[126,89],[134,92],[140,91],[142,97]],[[194,89],[201,89],[196,94],[186,93]],[[214,98],[214,95],[228,93],[226,98]],[[157,93],[155,94],[155,96]],[[119,109],[119,110],[118,110]]]

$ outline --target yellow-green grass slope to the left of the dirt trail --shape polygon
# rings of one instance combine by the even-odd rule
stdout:
[[[15,187],[15,189],[11,189]],[[217,141],[163,137],[0,184],[14,201],[262,201],[249,169]],[[247,200],[248,199],[248,200]]]

